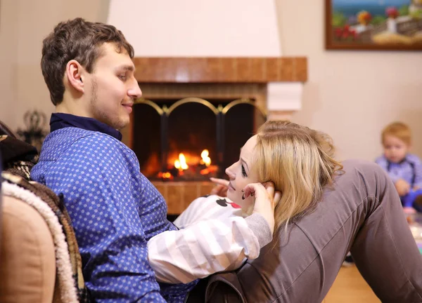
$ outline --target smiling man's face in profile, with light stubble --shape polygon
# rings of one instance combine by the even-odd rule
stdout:
[[[91,118],[120,130],[129,124],[134,100],[142,93],[127,52],[122,49],[117,53],[112,43],[104,43],[101,48],[103,55],[87,76],[87,111]]]

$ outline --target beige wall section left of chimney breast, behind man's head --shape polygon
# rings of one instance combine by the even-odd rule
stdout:
[[[0,120],[16,130],[27,110],[49,117],[54,107],[39,67],[42,39],[61,20],[105,22],[107,15],[108,0],[1,0]]]

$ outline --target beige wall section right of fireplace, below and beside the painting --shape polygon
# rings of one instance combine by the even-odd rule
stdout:
[[[373,160],[393,120],[422,156],[422,53],[324,50],[324,0],[276,0],[283,55],[305,55],[309,81],[293,121],[329,133],[341,158]]]

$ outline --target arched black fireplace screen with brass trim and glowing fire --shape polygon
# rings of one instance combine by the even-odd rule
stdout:
[[[149,180],[222,177],[264,123],[254,100],[188,97],[141,99],[134,105],[132,149]]]

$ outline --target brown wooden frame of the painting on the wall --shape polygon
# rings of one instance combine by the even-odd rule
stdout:
[[[335,27],[333,27],[333,1],[325,0],[325,48],[326,50],[407,50],[421,51],[422,41],[413,44],[404,43],[363,43],[355,41],[336,41]],[[422,22],[422,21],[421,21]],[[421,29],[422,30],[422,29]]]

